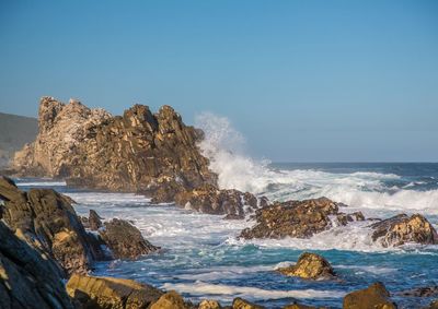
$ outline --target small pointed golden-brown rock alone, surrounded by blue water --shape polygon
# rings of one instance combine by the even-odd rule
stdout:
[[[327,260],[310,252],[302,253],[297,264],[278,269],[278,272],[287,276],[297,276],[307,280],[331,280],[336,276]]]

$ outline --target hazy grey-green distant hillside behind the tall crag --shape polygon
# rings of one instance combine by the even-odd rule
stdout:
[[[33,142],[37,133],[36,118],[0,112],[0,167],[7,166],[14,152]]]

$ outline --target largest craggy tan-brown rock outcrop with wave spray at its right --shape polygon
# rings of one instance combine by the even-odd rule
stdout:
[[[77,100],[43,97],[39,132],[33,145],[15,155],[22,174],[67,178],[69,185],[115,191],[166,192],[216,183],[196,143],[203,133],[183,123],[172,107],[152,114],[135,105],[122,117],[90,109]]]

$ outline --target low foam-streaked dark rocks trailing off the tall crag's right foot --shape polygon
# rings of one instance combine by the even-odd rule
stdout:
[[[218,190],[206,185],[192,191],[175,195],[177,205],[197,212],[215,215],[230,215],[229,218],[243,218],[244,213],[254,212],[267,204],[266,199],[257,199],[253,194],[238,190]]]

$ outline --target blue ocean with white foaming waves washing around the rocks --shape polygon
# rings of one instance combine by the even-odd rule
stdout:
[[[211,144],[210,144],[211,145]],[[222,188],[249,190],[270,200],[327,197],[361,211],[367,217],[419,213],[438,228],[438,164],[255,162],[230,150],[203,145]],[[280,308],[298,300],[304,305],[341,308],[345,294],[380,281],[401,308],[419,308],[428,298],[397,293],[438,285],[438,246],[405,245],[382,248],[370,239],[367,222],[334,227],[310,239],[238,239],[254,222],[223,221],[173,204],[153,205],[131,193],[76,190],[62,181],[16,179],[22,189],[54,188],[78,202],[80,215],[90,209],[104,218],[132,221],[143,236],[163,250],[137,261],[99,262],[94,275],[132,278],[175,289],[199,301],[230,304],[234,297]],[[274,270],[293,263],[303,251],[325,257],[337,281],[302,281]]]

